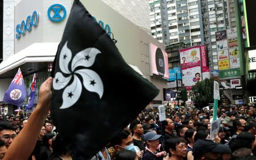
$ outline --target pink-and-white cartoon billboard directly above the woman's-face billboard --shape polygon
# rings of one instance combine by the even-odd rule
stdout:
[[[181,68],[193,65],[200,65],[200,63],[200,46],[180,50]]]

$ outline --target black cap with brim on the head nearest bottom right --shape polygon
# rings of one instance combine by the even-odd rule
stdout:
[[[193,146],[193,156],[198,158],[207,152],[212,153],[230,153],[228,145],[216,144],[212,140],[197,140]]]

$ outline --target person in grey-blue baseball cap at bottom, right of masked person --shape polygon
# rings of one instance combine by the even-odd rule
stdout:
[[[146,149],[142,156],[142,160],[154,159],[154,160],[163,160],[165,151],[160,151],[160,141],[159,138],[162,137],[159,134],[156,134],[154,131],[147,132],[144,134],[144,141],[146,142]]]

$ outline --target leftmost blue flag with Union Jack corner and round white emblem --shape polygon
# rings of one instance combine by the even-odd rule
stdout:
[[[17,73],[15,74],[15,77],[13,78],[13,81],[11,81],[9,88],[3,96],[3,101],[18,107],[22,107],[26,97],[27,90],[24,83],[22,71],[19,68]]]

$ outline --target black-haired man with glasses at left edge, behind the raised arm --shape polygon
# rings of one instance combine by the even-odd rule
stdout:
[[[10,123],[5,121],[0,122],[0,138],[5,141],[7,149],[16,136],[15,129]]]

